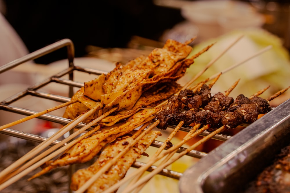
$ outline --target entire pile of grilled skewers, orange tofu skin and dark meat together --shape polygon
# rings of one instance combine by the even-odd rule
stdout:
[[[242,96],[239,96],[236,100],[227,96],[233,88],[230,88],[225,94],[216,93],[212,97],[210,88],[214,83],[206,85],[205,82],[208,80],[198,84],[193,89],[186,89],[187,86],[182,88],[177,84],[176,81],[181,78],[186,72],[186,69],[194,63],[194,59],[213,46],[209,45],[191,58],[187,58],[191,52],[191,47],[187,44],[191,41],[193,41],[193,39],[182,44],[173,40],[168,40],[163,48],[154,49],[149,56],[140,56],[128,62],[126,65],[117,63],[115,69],[107,75],[102,74],[95,80],[85,82],[84,87],[77,91],[72,97],[64,113],[65,118],[72,120],[70,124],[64,126],[59,133],[56,133],[47,141],[39,144],[39,146],[29,152],[27,156],[23,156],[10,167],[0,172],[0,180],[2,183],[0,185],[0,190],[39,166],[42,166],[44,169],[38,174],[35,174],[32,178],[58,166],[89,161],[102,151],[101,158],[99,158],[95,164],[87,170],[81,170],[75,173],[75,178],[73,178],[71,187],[77,192],[84,192],[86,190],[88,192],[96,192],[96,189],[104,191],[106,188],[108,188],[107,191],[114,191],[116,189],[113,190],[113,188],[115,185],[115,187],[117,187],[117,181],[114,182],[115,185],[106,185],[104,181],[99,183],[99,178],[110,179],[110,177],[106,176],[108,171],[110,171],[112,175],[117,172],[118,176],[121,178],[124,177],[127,170],[119,171],[111,169],[113,166],[120,167],[120,164],[124,165],[124,159],[120,159],[123,160],[123,163],[122,161],[116,163],[119,158],[131,156],[132,159],[130,164],[132,164],[139,155],[142,155],[152,141],[160,135],[160,132],[151,132],[155,126],[158,125],[158,128],[165,129],[166,125],[168,125],[171,120],[173,120],[173,123],[178,123],[172,135],[170,135],[166,143],[164,143],[170,144],[171,138],[183,124],[194,124],[193,129],[186,135],[180,144],[170,147],[164,153],[161,153],[161,150],[164,148],[164,146],[162,146],[146,166],[139,168],[141,172],[144,172],[147,169],[146,167],[150,167],[157,160],[168,155],[158,167],[158,170],[156,169],[151,172],[150,175],[152,176],[157,174],[160,168],[162,170],[164,167],[168,166],[168,164],[185,155],[190,150],[193,150],[196,146],[204,143],[217,133],[220,133],[225,128],[233,128],[235,124],[239,125],[242,122],[251,123],[257,119],[256,115],[267,113],[270,110],[266,100],[260,100],[260,98],[257,100],[258,94],[247,98],[247,103],[243,102],[242,104],[238,104],[240,98],[243,98]],[[206,66],[205,70],[208,67],[209,66]],[[215,81],[217,79],[218,77]],[[191,83],[193,81],[191,81]],[[286,91],[286,89],[284,91]],[[278,96],[278,94],[275,95],[275,97],[276,96]],[[227,100],[224,100],[225,98]],[[269,98],[269,100],[272,98],[273,97]],[[166,104],[167,99],[168,103]],[[175,99],[178,99],[179,102],[173,102]],[[227,101],[227,103],[223,103],[224,101]],[[264,106],[258,104],[257,101],[262,101]],[[256,104],[258,104],[258,108]],[[255,113],[251,111],[254,114],[251,114],[250,118],[245,119],[245,117],[247,117],[247,112],[243,112],[243,109],[239,108],[246,108],[248,106],[251,106],[250,110],[255,109],[256,111]],[[262,109],[260,109],[260,107],[262,107]],[[184,108],[185,111],[183,112],[185,113],[179,113],[179,111]],[[200,110],[200,108],[202,108],[202,110]],[[166,111],[171,111],[171,114],[164,113]],[[174,113],[172,113],[173,111]],[[240,121],[236,121],[238,119],[236,112],[238,111],[242,112],[243,116],[240,118]],[[47,112],[49,112],[49,110],[42,113]],[[190,118],[189,114],[192,115]],[[157,121],[146,128],[152,120],[155,119],[155,116]],[[220,120],[218,122],[213,120],[213,116],[219,117]],[[170,118],[168,119],[168,117]],[[205,117],[211,119],[205,119]],[[225,120],[222,120],[222,117],[225,117]],[[228,119],[227,117],[230,118]],[[234,117],[235,121],[230,123],[229,120],[232,120],[231,117]],[[211,123],[208,122],[210,120]],[[79,122],[85,122],[87,125],[61,141],[60,144],[39,154],[41,150],[47,147],[47,144],[66,133],[68,130],[73,129]],[[217,122],[217,124],[213,124],[214,122]],[[74,139],[66,146],[56,150],[91,126],[94,126],[92,130]],[[141,128],[136,131],[138,127]],[[1,127],[1,129],[3,128],[5,128],[5,126]],[[210,128],[213,129],[210,135],[181,152],[177,157],[171,158],[174,152],[186,143],[186,141],[189,141],[204,130]],[[121,142],[123,140],[122,137],[124,137],[123,142]],[[139,143],[140,140],[145,140],[142,142],[142,148],[142,144]],[[119,147],[119,143],[122,144],[123,148]],[[109,156],[109,153],[106,152],[109,152],[110,147],[112,148],[114,145],[119,147],[115,148],[118,151]],[[138,148],[133,150],[138,153],[132,153],[132,148]],[[61,152],[62,155],[60,157],[52,160]],[[105,159],[102,158],[103,156],[107,156],[106,159],[108,161],[104,161]],[[31,159],[32,157],[34,158]],[[127,164],[126,168],[131,166],[130,164]],[[90,172],[91,178],[81,180],[82,178],[80,176],[82,172]],[[126,179],[126,177],[124,179]],[[128,179],[129,178],[127,178],[127,180]],[[145,183],[149,179],[150,176],[146,179],[144,178],[142,182],[139,182],[139,185]],[[120,180],[120,182],[121,181],[122,180]],[[138,183],[135,185],[137,186],[137,184]],[[127,189],[127,191],[129,190]]]

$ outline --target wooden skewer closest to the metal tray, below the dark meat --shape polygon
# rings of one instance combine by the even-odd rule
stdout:
[[[146,175],[145,177],[143,177],[142,179],[140,179],[137,183],[135,183],[131,187],[128,187],[128,190],[126,192],[124,191],[122,193],[128,193],[128,192],[134,190],[135,188],[137,188],[139,185],[143,184],[144,182],[150,180],[155,174],[158,174],[159,172],[161,172],[163,170],[163,168],[166,168],[171,163],[173,163],[174,161],[176,161],[180,157],[184,156],[189,151],[193,150],[194,148],[196,148],[200,144],[204,143],[205,141],[211,139],[211,137],[213,137],[214,135],[216,135],[216,134],[220,133],[221,131],[223,131],[224,128],[225,127],[222,126],[222,127],[218,128],[217,130],[213,131],[212,133],[210,133],[209,135],[207,135],[206,137],[204,137],[201,140],[197,141],[195,144],[193,144],[192,146],[190,146],[188,149],[180,152],[177,156],[175,156],[175,157],[171,158],[170,160],[166,161],[166,163],[163,163],[160,166],[158,166],[156,169],[154,169],[148,175]],[[103,193],[108,193],[108,192],[104,191]]]

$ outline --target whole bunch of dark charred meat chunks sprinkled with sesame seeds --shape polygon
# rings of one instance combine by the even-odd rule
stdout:
[[[181,91],[179,96],[183,98],[183,104],[175,104],[175,106],[184,106],[186,111],[176,114],[171,113],[170,116],[166,116],[166,111],[161,111],[157,115],[157,118],[159,117],[161,121],[158,128],[166,129],[169,122],[178,124],[180,121],[184,121],[184,125],[193,123],[209,124],[211,130],[222,125],[235,128],[242,123],[253,123],[258,119],[258,115],[270,111],[268,101],[257,95],[247,98],[241,94],[235,100],[227,96],[232,89],[230,88],[225,94],[218,92],[213,97],[211,97],[210,89],[206,89],[205,84],[200,87],[196,94],[188,89]],[[188,97],[189,94],[192,94],[192,96]]]

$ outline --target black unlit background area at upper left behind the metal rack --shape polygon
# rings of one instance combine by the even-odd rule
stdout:
[[[165,29],[184,20],[180,10],[156,6],[151,0],[4,2],[6,19],[29,52],[69,38],[76,57],[86,54],[87,45],[125,48],[133,35],[158,41]],[[35,62],[48,64],[63,58],[65,48]]]

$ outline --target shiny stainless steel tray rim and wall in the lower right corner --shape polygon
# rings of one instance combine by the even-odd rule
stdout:
[[[188,168],[180,192],[243,192],[289,143],[290,99]]]

